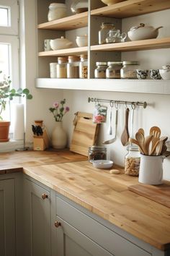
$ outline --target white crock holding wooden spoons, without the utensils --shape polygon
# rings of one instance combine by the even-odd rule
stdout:
[[[162,155],[140,155],[139,179],[140,183],[162,184],[163,163]]]

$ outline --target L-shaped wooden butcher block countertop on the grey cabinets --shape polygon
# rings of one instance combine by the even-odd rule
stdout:
[[[23,171],[153,247],[170,248],[170,208],[129,191],[138,177],[121,168],[120,174],[109,174],[86,157],[63,150],[1,153],[0,169],[1,174]]]

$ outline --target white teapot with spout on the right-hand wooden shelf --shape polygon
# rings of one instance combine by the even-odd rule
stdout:
[[[161,27],[154,28],[152,26],[146,26],[145,24],[140,23],[140,25],[130,28],[128,31],[128,38],[130,38],[132,41],[157,38],[158,29]]]

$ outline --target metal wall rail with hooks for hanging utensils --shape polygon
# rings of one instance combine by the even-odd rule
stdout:
[[[139,102],[139,101],[113,101],[113,100],[104,100],[102,98],[88,98],[88,102],[91,102],[91,101],[94,101],[94,102],[107,102],[107,103],[115,103],[115,104],[125,104],[125,105],[128,105],[130,104],[131,106],[143,106],[143,108],[146,108],[147,106],[147,103],[146,101],[144,102]]]

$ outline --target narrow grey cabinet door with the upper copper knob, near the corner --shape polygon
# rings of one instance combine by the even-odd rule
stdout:
[[[50,192],[24,179],[24,256],[50,256]]]

